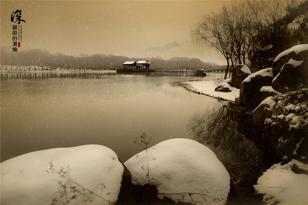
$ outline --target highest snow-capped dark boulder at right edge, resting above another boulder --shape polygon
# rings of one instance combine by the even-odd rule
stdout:
[[[276,77],[280,72],[282,66],[288,62],[290,59],[295,61],[307,60],[308,58],[308,44],[295,45],[290,49],[287,49],[278,54],[278,56],[273,61],[273,75]]]

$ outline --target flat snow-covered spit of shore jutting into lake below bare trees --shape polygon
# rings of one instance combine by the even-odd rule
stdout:
[[[227,101],[235,101],[235,98],[240,96],[240,89],[231,87],[231,92],[224,93],[224,92],[218,92],[215,91],[215,88],[217,87],[217,80],[212,81],[183,81],[178,83],[178,85],[186,88],[189,91],[208,95],[211,97],[216,97],[222,100]]]

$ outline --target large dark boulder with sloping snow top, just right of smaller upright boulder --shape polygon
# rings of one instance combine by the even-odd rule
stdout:
[[[270,86],[273,80],[272,68],[266,68],[249,75],[242,83],[240,89],[240,104],[247,108],[257,107],[261,101],[260,89]]]

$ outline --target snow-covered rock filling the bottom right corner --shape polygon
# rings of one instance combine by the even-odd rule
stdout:
[[[257,194],[264,194],[266,203],[308,204],[308,175],[296,174],[292,167],[308,170],[308,165],[292,160],[288,164],[274,164],[253,185]]]

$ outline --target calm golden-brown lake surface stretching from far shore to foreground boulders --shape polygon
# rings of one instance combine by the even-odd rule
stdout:
[[[188,121],[222,104],[188,92],[179,81],[212,80],[185,73],[1,73],[1,161],[42,149],[101,144],[122,162],[150,145],[193,138]]]

